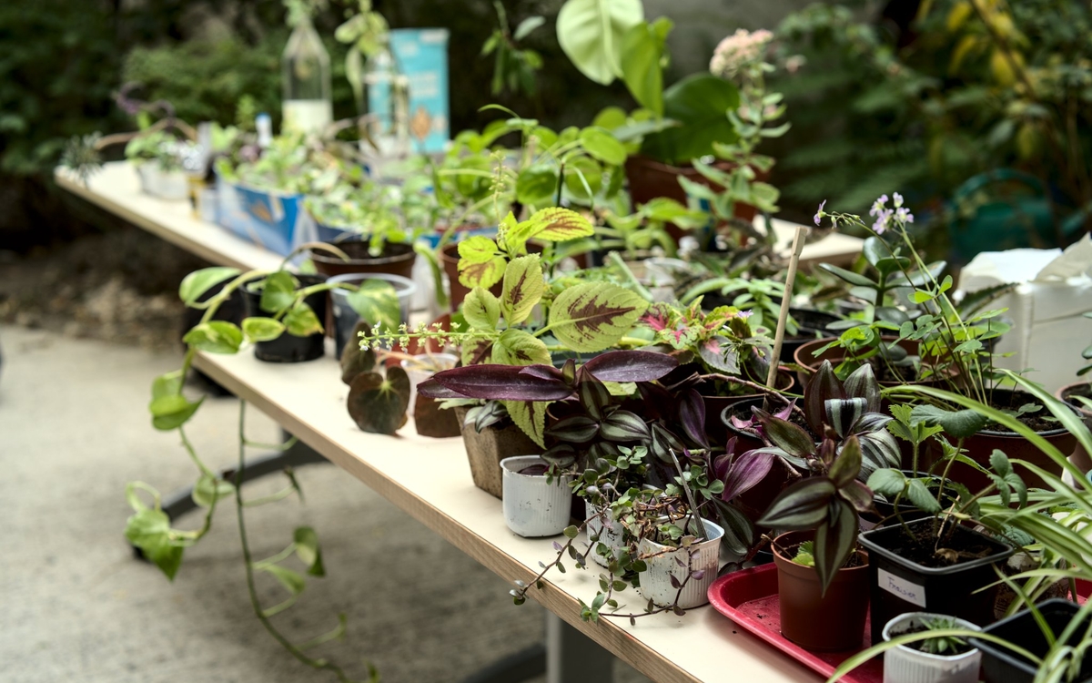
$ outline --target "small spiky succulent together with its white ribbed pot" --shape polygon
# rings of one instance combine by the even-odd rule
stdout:
[[[883,639],[913,633],[935,633],[962,628],[982,631],[962,619],[910,612],[883,626]],[[906,643],[883,652],[883,680],[889,683],[977,683],[982,652],[965,638],[933,636]]]

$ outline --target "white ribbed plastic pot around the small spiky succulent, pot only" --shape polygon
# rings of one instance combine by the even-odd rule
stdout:
[[[883,626],[883,639],[890,640],[902,635],[905,629],[921,623],[922,619],[938,616],[943,615],[929,612],[900,614]],[[960,628],[982,631],[962,619],[957,619],[956,624]],[[977,683],[981,666],[982,652],[977,649],[946,657],[900,645],[883,652],[883,683]]]

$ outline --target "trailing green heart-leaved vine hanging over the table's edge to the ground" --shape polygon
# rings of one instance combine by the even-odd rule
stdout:
[[[298,250],[308,248],[328,248],[344,258],[344,254],[340,250],[329,248],[325,245],[308,244],[302,245]],[[292,256],[289,255],[285,259],[278,270],[272,272],[259,270],[240,272],[235,268],[206,268],[190,273],[182,281],[179,287],[179,296],[182,302],[191,308],[203,309],[204,314],[198,325],[183,337],[187,351],[181,368],[161,375],[152,382],[152,401],[149,404],[149,410],[152,413],[152,425],[156,429],[178,433],[183,449],[197,467],[199,475],[193,485],[192,496],[193,502],[204,508],[204,518],[197,529],[174,528],[169,516],[163,510],[163,499],[159,492],[147,483],[134,481],[126,487],[126,498],[133,509],[133,515],[127,521],[124,533],[129,542],[138,547],[145,558],[159,567],[169,580],[174,580],[186,549],[193,546],[212,530],[213,514],[219,502],[234,497],[241,554],[246,567],[247,592],[254,615],[265,631],[297,660],[314,669],[331,672],[342,683],[354,683],[356,680],[351,679],[342,667],[324,658],[314,658],[307,653],[307,650],[321,644],[344,639],[347,623],[344,613],[337,615],[337,625],[333,629],[300,644],[293,643],[271,621],[273,616],[289,609],[298,601],[307,587],[305,574],[314,578],[325,576],[322,550],[314,529],[306,526],[297,527],[293,531],[292,541],[284,550],[270,557],[254,560],[251,554],[246,526],[246,508],[276,503],[293,495],[302,501],[304,494],[292,469],[286,468],[285,476],[288,483],[284,488],[266,496],[245,498],[238,484],[244,480],[246,471],[246,450],[250,447],[287,450],[295,444],[296,439],[293,438],[278,445],[261,444],[249,439],[246,435],[246,402],[240,401],[238,466],[235,471],[228,470],[217,473],[201,459],[186,432],[187,423],[193,417],[204,400],[203,398],[190,400],[182,392],[185,379],[199,351],[230,354],[237,353],[245,341],[270,341],[282,333],[307,337],[322,331],[322,325],[311,307],[307,305],[306,298],[316,292],[344,285],[323,283],[299,286],[292,273],[285,270]],[[222,285],[219,291],[210,295],[216,285]],[[241,326],[214,319],[219,307],[244,286],[251,290],[261,288],[260,306],[270,317],[248,317],[242,320]],[[387,286],[390,287],[389,284]],[[351,285],[345,288],[354,287]],[[394,302],[393,316],[397,315],[397,299],[393,287],[390,292],[379,291],[375,287],[356,288],[351,293],[351,296],[354,297],[356,307],[361,313],[377,316],[380,315],[380,311],[384,311],[382,313],[384,316],[391,315],[388,299],[392,298]],[[151,506],[144,502],[141,493],[151,496]],[[302,563],[304,573],[285,566],[286,561],[293,556]],[[287,598],[272,607],[263,607],[257,590],[257,575],[259,573],[273,577],[288,593]],[[379,675],[375,668],[371,664],[367,664],[367,667],[368,673],[365,681],[368,683],[378,682]]]

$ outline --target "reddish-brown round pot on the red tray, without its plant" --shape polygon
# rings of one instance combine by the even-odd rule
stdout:
[[[863,564],[839,569],[823,593],[815,567],[798,565],[782,554],[814,538],[814,531],[790,531],[773,542],[781,635],[809,650],[856,649],[868,615],[868,555],[857,551]]]

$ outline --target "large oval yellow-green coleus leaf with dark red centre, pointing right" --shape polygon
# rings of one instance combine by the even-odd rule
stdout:
[[[605,282],[570,287],[554,299],[549,328],[573,351],[602,351],[618,342],[648,308],[639,295]]]

